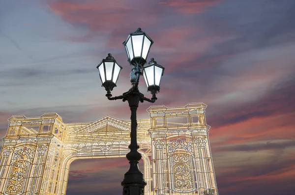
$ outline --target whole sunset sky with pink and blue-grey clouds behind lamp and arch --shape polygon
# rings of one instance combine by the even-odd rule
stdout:
[[[208,105],[219,194],[294,195],[294,9],[294,0],[0,0],[0,137],[18,114],[128,119],[96,66],[112,53],[123,67],[112,93],[127,91],[122,42],[140,27],[154,41],[148,57],[165,67],[153,105]],[[139,88],[151,96],[143,78]],[[121,193],[126,164],[74,161],[67,195]]]

